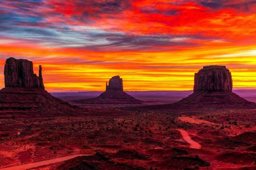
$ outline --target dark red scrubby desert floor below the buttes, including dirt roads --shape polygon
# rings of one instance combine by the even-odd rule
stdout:
[[[86,108],[87,112],[79,117],[37,117],[26,113],[29,119],[17,114],[0,119],[0,168],[256,168],[255,109]]]

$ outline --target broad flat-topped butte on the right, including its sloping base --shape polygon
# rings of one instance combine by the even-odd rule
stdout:
[[[231,72],[226,66],[204,66],[194,74],[194,93],[175,104],[189,107],[255,106],[232,89]]]

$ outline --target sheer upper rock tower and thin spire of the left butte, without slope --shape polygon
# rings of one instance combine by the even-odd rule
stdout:
[[[5,87],[24,87],[27,89],[44,89],[42,67],[39,67],[39,77],[34,74],[33,63],[25,59],[9,58],[4,66]]]

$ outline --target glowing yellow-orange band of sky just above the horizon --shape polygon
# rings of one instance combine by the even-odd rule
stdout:
[[[48,91],[104,91],[105,83],[112,76],[123,78],[126,91],[191,90],[194,73],[204,65],[225,65],[233,76],[237,88],[256,88],[256,49],[250,47],[193,47],[179,51],[161,52],[88,52],[62,49],[33,49],[16,52],[20,47],[2,47],[9,55],[32,60],[34,71],[43,67],[44,85]],[[15,52],[13,52],[15,51]],[[227,53],[225,51],[232,51]],[[27,57],[27,56],[33,57]],[[46,56],[55,56],[46,57]],[[59,57],[57,57],[59,56]],[[77,60],[88,63],[65,62],[76,56]],[[112,56],[115,56],[114,58]],[[17,57],[16,57],[17,58]],[[69,61],[69,60],[68,60]],[[4,66],[4,60],[1,65]],[[3,67],[2,67],[3,68]],[[4,86],[1,70],[1,86]]]

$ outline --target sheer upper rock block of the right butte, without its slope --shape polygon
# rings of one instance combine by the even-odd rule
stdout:
[[[226,66],[204,66],[194,75],[194,92],[231,92],[232,76]]]

